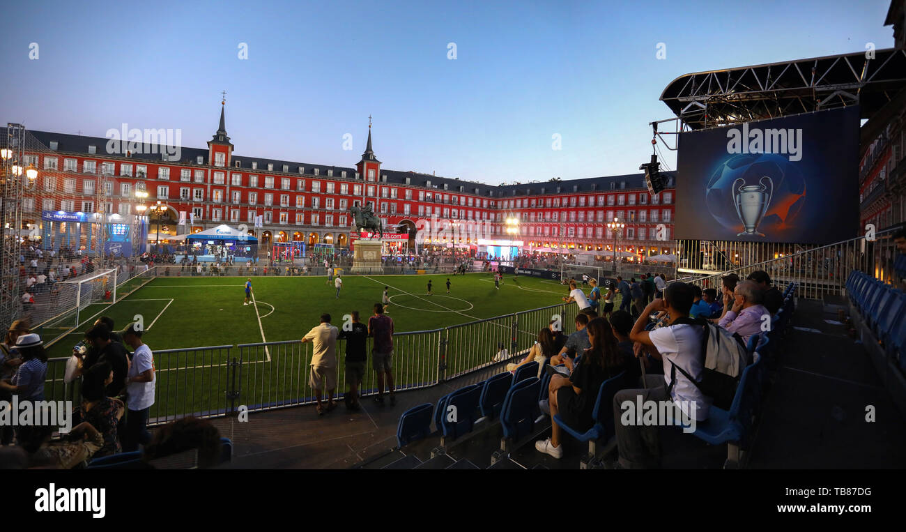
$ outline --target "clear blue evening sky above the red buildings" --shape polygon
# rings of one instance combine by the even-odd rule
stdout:
[[[246,157],[352,166],[371,114],[385,169],[490,184],[631,173],[676,77],[891,47],[888,5],[34,0],[5,6],[0,120],[100,137],[173,128],[203,148],[226,90]]]

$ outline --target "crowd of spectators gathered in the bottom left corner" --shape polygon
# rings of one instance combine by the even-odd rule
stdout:
[[[140,324],[115,331],[102,316],[72,351],[72,374],[81,379],[81,401],[71,414],[72,429],[55,435],[43,423],[0,425],[0,469],[81,469],[93,459],[141,449],[136,467],[153,468],[156,459],[198,450],[198,467],[216,466],[220,435],[209,421],[192,417],[169,423],[153,436],[149,411],[155,400],[154,357],[142,342]],[[0,343],[0,401],[42,408],[47,353],[38,334],[17,320]]]

